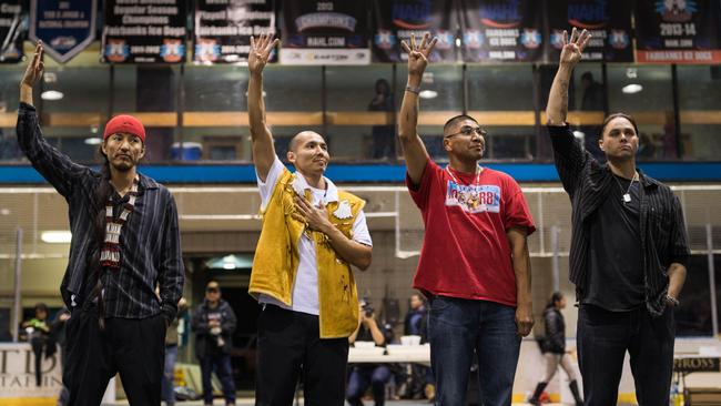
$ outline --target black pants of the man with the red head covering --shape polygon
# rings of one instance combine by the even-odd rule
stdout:
[[[159,406],[165,353],[165,318],[106,318],[94,308],[77,309],[65,327],[68,365],[63,384],[69,406],[98,406],[108,382],[120,373],[133,406]]]

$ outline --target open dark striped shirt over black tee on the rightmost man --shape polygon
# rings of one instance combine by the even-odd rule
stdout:
[[[588,282],[590,222],[601,203],[616,196],[618,187],[607,164],[599,163],[576,142],[566,126],[548,126],[554,159],[563,189],[571,199],[571,248],[569,278],[579,298]],[[644,175],[641,170],[640,236],[641,266],[644,276],[646,305],[653,315],[663,313],[669,288],[668,268],[672,263],[686,265],[689,256],[686,226],[679,199],[667,185]]]

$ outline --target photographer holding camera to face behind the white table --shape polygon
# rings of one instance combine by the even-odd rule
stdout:
[[[364,298],[358,304],[358,328],[348,337],[348,343],[374,342],[377,347],[386,345],[385,328],[376,321],[373,306]],[[358,364],[351,368],[346,398],[351,406],[363,406],[363,394],[368,386],[373,387],[373,399],[376,406],[383,406],[386,400],[386,383],[390,380],[390,369],[383,364]]]

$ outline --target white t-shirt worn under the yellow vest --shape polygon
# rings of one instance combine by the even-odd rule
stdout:
[[[281,162],[276,156],[275,162],[273,162],[273,165],[267,173],[265,182],[261,181],[256,171],[255,177],[257,179],[257,186],[261,192],[262,209],[265,209],[271,200],[275,184],[281,179],[284,169],[285,166],[283,165],[283,162]],[[295,177],[294,189],[298,191],[304,191],[306,189],[311,190],[313,199],[311,204],[313,205],[317,205],[319,202],[323,202],[324,205],[327,205],[328,202],[337,202],[338,190],[331,180],[327,177],[324,179],[327,185],[326,190],[311,187],[302,175]],[[363,210],[358,212],[358,215],[356,215],[355,222],[353,223],[353,241],[373,246],[373,241],[370,240],[370,233],[368,232],[368,225],[366,224],[366,217]],[[297,274],[295,275],[295,284],[293,285],[292,305],[287,306],[283,302],[266,294],[261,294],[258,302],[274,304],[290,311],[317,315],[319,313],[319,302],[315,241],[309,240],[305,234],[302,234],[301,241],[298,242],[298,254],[299,263]]]

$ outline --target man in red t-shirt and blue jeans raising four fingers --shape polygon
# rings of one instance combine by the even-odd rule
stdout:
[[[468,373],[478,355],[484,405],[510,405],[520,339],[532,327],[526,238],[536,227],[509,175],[483,168],[485,135],[457,115],[444,125],[449,164],[428,156],[417,133],[418,93],[436,39],[424,35],[408,52],[408,85],[398,135],[406,184],[426,226],[414,287],[430,302],[428,338],[439,405],[465,405]]]

